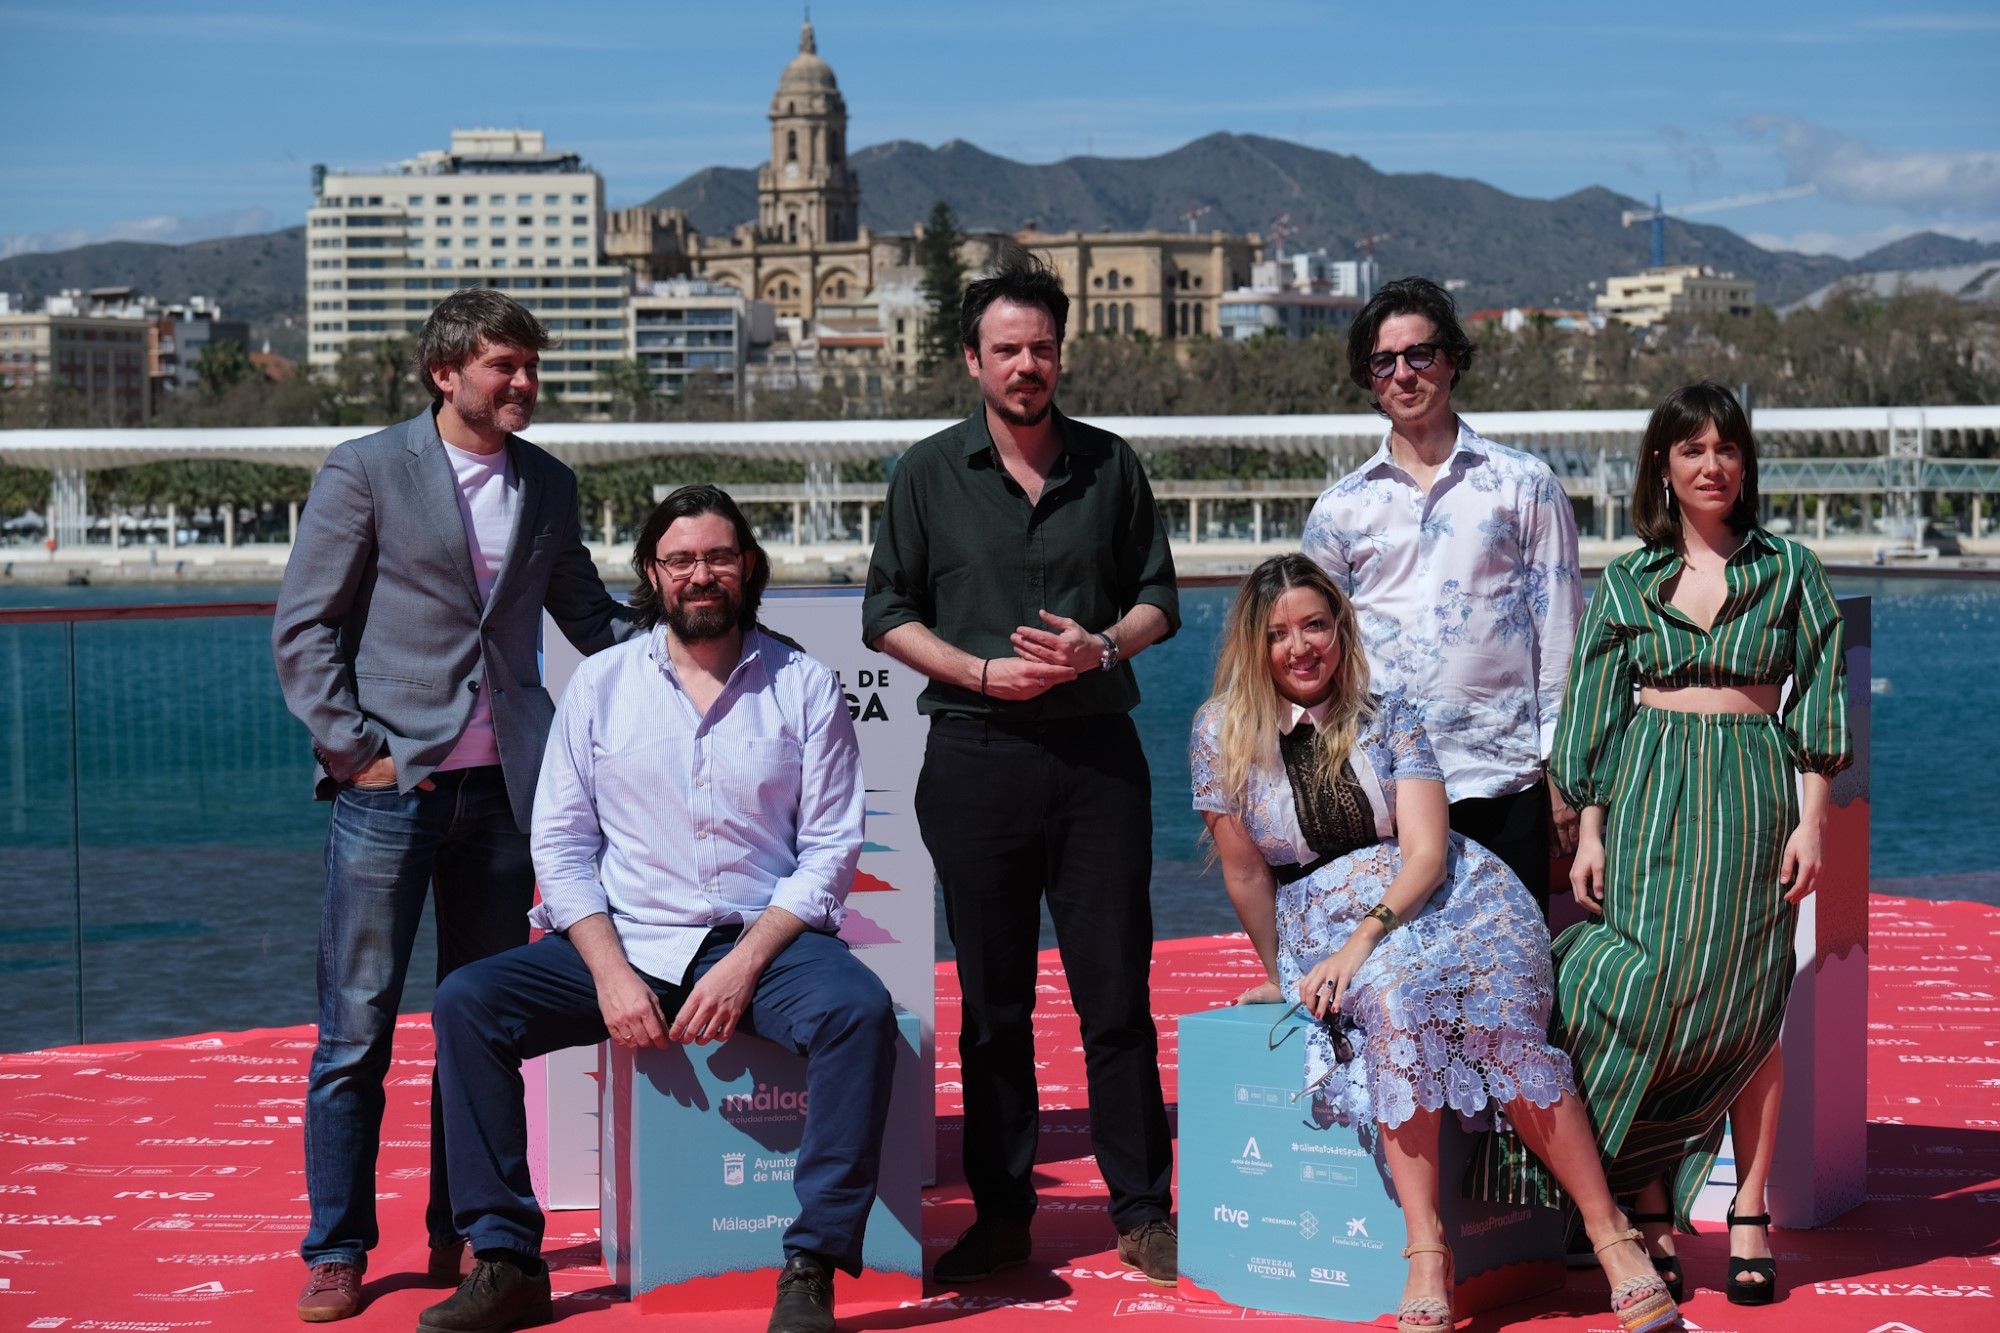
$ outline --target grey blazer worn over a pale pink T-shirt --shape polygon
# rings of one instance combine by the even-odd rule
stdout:
[[[586,654],[632,632],[630,608],[584,550],[576,474],[528,440],[506,446],[520,498],[486,606],[428,410],[340,444],[312,482],[272,654],[286,707],[312,733],[322,801],[384,753],[408,793],[452,753],[486,691],[526,831],[556,713],[538,660],[542,608]]]

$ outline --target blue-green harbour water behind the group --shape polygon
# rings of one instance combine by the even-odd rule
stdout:
[[[1876,889],[2000,901],[2000,582],[1836,588],[1872,598]],[[1162,939],[1236,929],[1188,807],[1188,725],[1232,594],[1188,588],[1180,634],[1134,660]],[[274,596],[0,586],[0,606]],[[268,616],[0,626],[0,1051],[76,1041],[78,995],[90,1041],[312,1021],[326,807],[308,781]],[[406,1011],[430,1007],[432,957],[426,923]]]

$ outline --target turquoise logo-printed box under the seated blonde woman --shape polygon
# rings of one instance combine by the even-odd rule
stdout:
[[[1180,1285],[1190,1299],[1366,1323],[1402,1295],[1402,1209],[1380,1151],[1306,1099],[1306,1015],[1234,1005],[1180,1019]],[[1272,1023],[1278,1027],[1272,1029]],[[1458,1313],[1562,1285],[1552,1209],[1458,1197],[1472,1141],[1454,1115],[1440,1143]]]

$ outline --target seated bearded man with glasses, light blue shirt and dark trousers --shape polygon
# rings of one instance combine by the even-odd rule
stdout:
[[[478,1259],[418,1329],[546,1323],[524,1059],[756,1033],[806,1057],[772,1333],[834,1327],[860,1273],[896,1061],[888,991],[840,941],[862,765],[840,681],[756,622],[770,566],[736,502],[682,486],[640,530],[646,634],[578,666],[534,803],[548,931],[438,987],[452,1213]]]

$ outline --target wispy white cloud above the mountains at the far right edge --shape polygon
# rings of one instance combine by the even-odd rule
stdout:
[[[1858,138],[1790,116],[1752,116],[1744,130],[1778,142],[1790,184],[1818,186],[1840,204],[1918,214],[2000,214],[2000,152],[1882,152]]]

